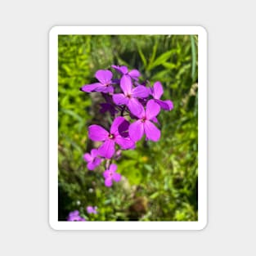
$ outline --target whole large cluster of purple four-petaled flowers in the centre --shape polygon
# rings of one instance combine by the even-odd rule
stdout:
[[[119,182],[121,175],[116,172],[117,165],[111,164],[119,159],[122,150],[133,150],[143,135],[146,140],[159,141],[161,132],[157,115],[162,110],[172,110],[172,101],[163,101],[164,90],[160,82],[147,87],[147,82],[139,83],[141,76],[138,70],[128,70],[126,66],[112,65],[118,75],[113,78],[110,70],[97,70],[97,83],[85,84],[82,92],[101,92],[105,102],[101,103],[101,113],[109,112],[113,118],[110,128],[92,124],[88,128],[88,137],[92,141],[101,141],[98,149],[83,155],[88,169],[93,170],[106,160],[103,173],[105,185],[112,186]]]

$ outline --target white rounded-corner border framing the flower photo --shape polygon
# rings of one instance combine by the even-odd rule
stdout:
[[[198,34],[198,221],[58,222],[58,35]],[[201,26],[55,26],[49,32],[49,224],[54,230],[202,230],[207,225],[207,32]]]

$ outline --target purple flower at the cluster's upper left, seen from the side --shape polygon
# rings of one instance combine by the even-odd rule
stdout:
[[[83,92],[114,92],[111,80],[113,74],[110,70],[97,70],[95,77],[100,83],[85,84],[80,90]]]

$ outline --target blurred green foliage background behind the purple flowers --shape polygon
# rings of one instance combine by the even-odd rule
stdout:
[[[196,221],[197,43],[195,35],[59,36],[59,220],[78,209],[88,221]],[[110,125],[100,93],[80,92],[97,70],[127,65],[141,81],[160,81],[172,111],[158,116],[161,139],[137,143],[117,161],[121,182],[104,186],[103,167],[88,171],[88,125]],[[88,205],[97,214],[88,214]]]

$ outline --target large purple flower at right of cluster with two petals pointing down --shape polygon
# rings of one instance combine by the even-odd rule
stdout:
[[[139,118],[136,122],[129,126],[129,136],[132,141],[139,141],[144,133],[146,133],[146,139],[150,141],[158,141],[161,132],[152,124],[150,120],[155,120],[155,116],[159,114],[160,107],[154,100],[150,100],[146,103],[146,111],[143,110],[141,115],[137,115]]]

